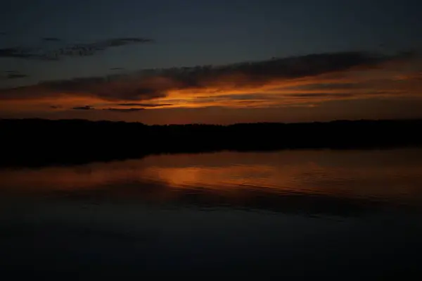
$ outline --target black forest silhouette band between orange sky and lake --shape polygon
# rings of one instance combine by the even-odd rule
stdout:
[[[89,120],[2,119],[0,166],[44,166],[149,154],[422,146],[422,120],[145,125]]]

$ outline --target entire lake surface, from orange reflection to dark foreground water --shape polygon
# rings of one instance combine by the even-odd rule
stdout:
[[[421,149],[4,169],[0,187],[4,275],[409,280],[422,272]]]

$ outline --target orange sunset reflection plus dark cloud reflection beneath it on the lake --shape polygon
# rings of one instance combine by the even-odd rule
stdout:
[[[422,150],[181,154],[74,167],[0,170],[6,196],[345,216],[422,202]]]

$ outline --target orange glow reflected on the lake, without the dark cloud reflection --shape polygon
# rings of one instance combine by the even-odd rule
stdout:
[[[0,170],[2,192],[145,194],[177,192],[244,196],[324,194],[347,198],[422,200],[422,150],[274,151],[179,154],[84,166]]]

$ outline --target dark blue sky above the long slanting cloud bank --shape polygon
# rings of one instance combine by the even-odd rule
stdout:
[[[27,76],[9,75],[12,79],[0,80],[0,88],[143,68],[422,47],[420,0],[13,0],[1,5],[0,74],[16,70]],[[8,48],[53,50],[126,37],[155,42],[58,61],[7,53]]]

